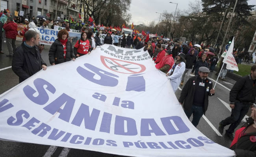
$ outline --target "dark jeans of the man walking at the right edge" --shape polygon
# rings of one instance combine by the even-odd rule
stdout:
[[[240,124],[243,117],[245,117],[249,108],[250,104],[235,102],[235,108],[231,110],[231,116],[221,121],[223,126],[230,124],[228,130],[226,130],[227,133],[234,133],[234,130]]]

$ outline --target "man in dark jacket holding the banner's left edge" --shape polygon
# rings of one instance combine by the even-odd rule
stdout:
[[[37,48],[40,41],[39,34],[35,31],[27,31],[25,38],[26,41],[15,51],[11,66],[13,72],[19,76],[19,82],[28,79],[42,68],[44,70],[47,68]]]

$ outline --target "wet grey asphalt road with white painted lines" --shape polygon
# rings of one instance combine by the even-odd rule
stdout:
[[[19,84],[19,78],[13,73],[10,68],[12,58],[6,57],[8,54],[7,47],[3,43],[2,47],[5,54],[0,54],[0,94],[4,93],[10,88],[13,88]],[[20,41],[16,42],[17,46],[21,44]],[[48,66],[50,66],[48,60],[48,50],[50,46],[45,46],[45,49],[41,53],[43,60]],[[214,75],[215,72],[209,74],[209,78],[213,80],[217,79]],[[200,120],[197,129],[201,131],[208,138],[214,142],[221,144],[222,146],[229,147],[231,141],[226,137],[219,134],[218,126],[219,122],[226,117],[230,116],[229,108],[229,91],[234,85],[235,81],[226,78],[226,81],[219,80],[215,88],[215,95],[209,97],[209,107],[205,117]],[[182,89],[182,86],[180,86]],[[179,98],[181,90],[176,91],[176,97]],[[225,106],[226,105],[226,106]],[[250,110],[249,110],[250,113]],[[249,113],[247,115],[249,116]],[[191,117],[192,118],[192,117]],[[242,122],[237,128],[244,124]],[[226,127],[227,128],[227,127]],[[218,135],[219,134],[219,135]],[[29,144],[22,142],[10,142],[0,141],[0,157],[74,157],[74,156],[90,156],[90,157],[121,157],[120,155],[113,155],[107,153],[93,152],[87,150],[69,149],[56,146]]]

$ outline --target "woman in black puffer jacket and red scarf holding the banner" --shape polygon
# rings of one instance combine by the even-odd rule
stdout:
[[[68,41],[69,33],[66,29],[61,29],[58,32],[58,38],[52,44],[49,50],[50,64],[60,64],[70,60],[76,60],[73,52],[72,44]]]

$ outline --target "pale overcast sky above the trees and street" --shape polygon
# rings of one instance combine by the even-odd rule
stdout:
[[[155,21],[155,24],[157,24],[160,17],[158,13],[163,13],[166,10],[174,14],[176,4],[169,2],[178,3],[177,11],[188,9],[189,0],[132,0],[129,12],[132,14],[130,24],[132,22],[134,22],[134,25],[139,25],[143,22],[147,24],[145,20],[148,22]],[[190,2],[193,1],[190,0]],[[256,0],[249,0],[248,4],[256,5]]]

